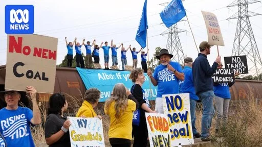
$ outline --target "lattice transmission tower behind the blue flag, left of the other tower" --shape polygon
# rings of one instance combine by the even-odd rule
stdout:
[[[161,6],[167,6],[167,3],[160,4]],[[184,20],[181,20],[184,21]],[[177,61],[180,64],[184,63],[184,52],[180,43],[178,33],[186,32],[186,30],[178,29],[178,24],[173,24],[171,27],[168,28],[165,32],[161,33],[160,35],[168,34],[166,49],[168,50],[169,54],[173,55],[171,61]]]

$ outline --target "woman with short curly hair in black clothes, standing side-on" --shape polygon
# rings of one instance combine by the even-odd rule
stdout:
[[[145,82],[143,70],[138,68],[133,69],[130,73],[129,79],[131,79],[132,82],[135,83],[131,88],[131,92],[139,103],[139,109],[136,111],[136,113],[134,113],[133,116],[133,147],[143,147],[146,146],[148,137],[145,112],[156,112],[150,109],[149,101],[147,99],[147,93],[145,93],[145,91],[142,89],[142,85]]]

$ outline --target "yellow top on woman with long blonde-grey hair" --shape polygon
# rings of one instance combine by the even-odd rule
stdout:
[[[108,114],[110,117],[109,138],[132,139],[132,119],[133,112],[136,110],[136,103],[128,100],[127,104],[125,112],[122,113],[119,119],[115,117],[115,102],[111,103],[108,112],[104,110],[105,114]]]

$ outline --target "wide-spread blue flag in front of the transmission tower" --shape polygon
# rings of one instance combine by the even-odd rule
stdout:
[[[160,13],[160,17],[167,28],[177,23],[186,16],[185,8],[181,0],[173,0],[168,6]]]

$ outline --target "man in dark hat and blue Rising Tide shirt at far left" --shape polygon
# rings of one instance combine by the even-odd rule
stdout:
[[[0,132],[4,136],[7,146],[35,146],[30,132],[30,124],[39,125],[41,123],[41,113],[36,102],[35,88],[27,86],[26,90],[30,93],[33,111],[18,106],[21,99],[26,99],[25,92],[2,91],[7,106],[0,110]],[[25,96],[21,97],[21,95]]]

